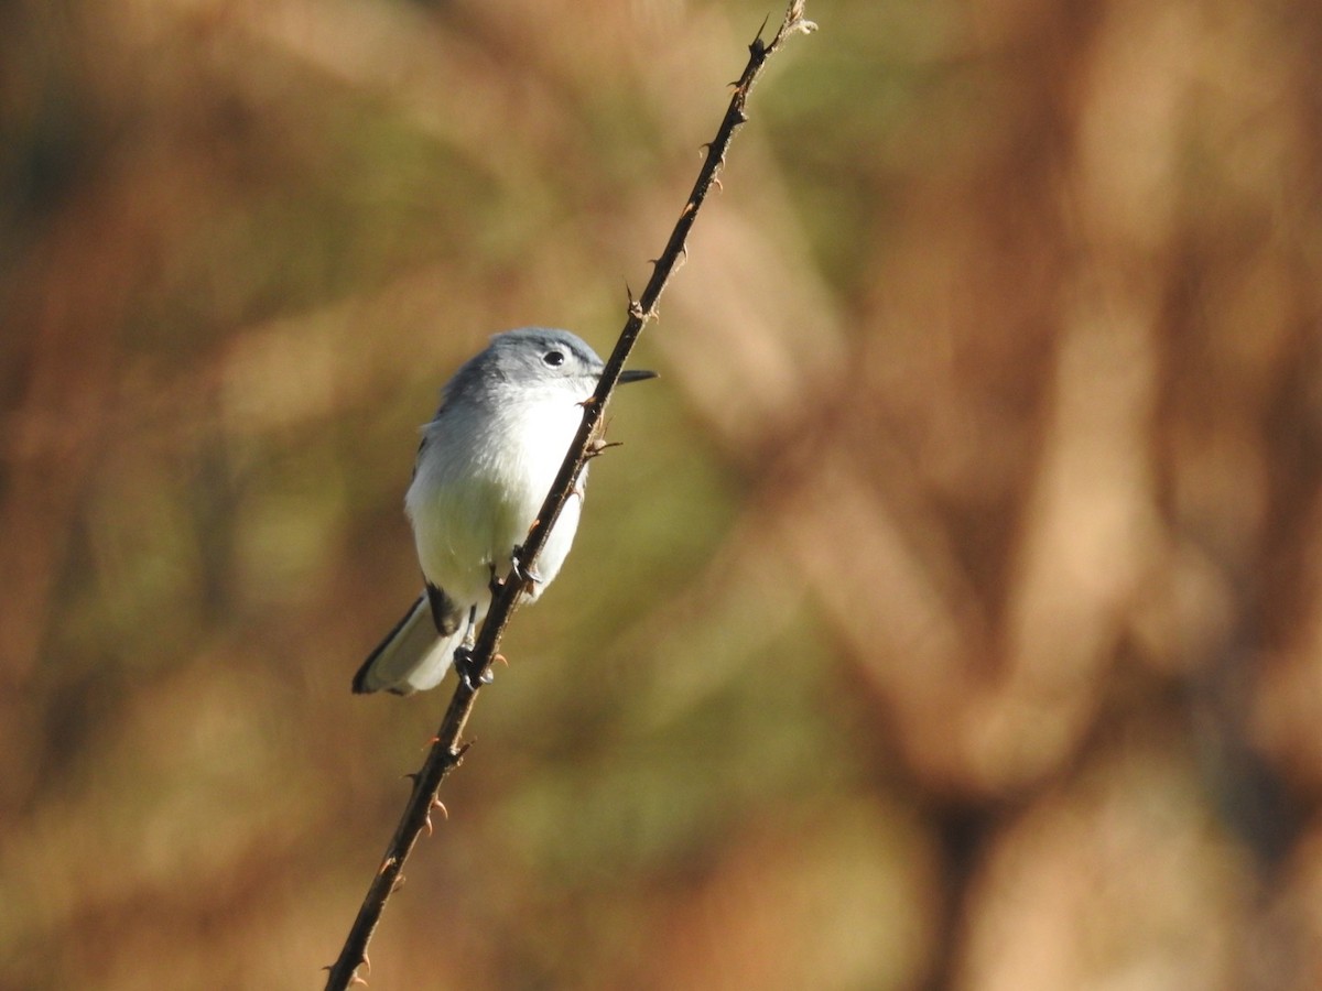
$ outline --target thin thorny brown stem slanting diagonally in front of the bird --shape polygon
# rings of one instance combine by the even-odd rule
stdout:
[[[765,28],[765,22],[763,28]],[[706,201],[711,186],[719,186],[718,173],[724,165],[726,151],[730,148],[735,131],[748,120],[744,106],[748,100],[748,94],[761,74],[763,66],[765,66],[768,58],[780,50],[789,37],[793,34],[806,34],[816,28],[816,24],[804,17],[804,0],[791,0],[775,37],[769,42],[765,42],[761,40],[761,30],[759,29],[758,37],[748,46],[748,63],[744,66],[743,74],[734,83],[730,107],[726,110],[715,139],[707,145],[707,157],[698,172],[697,181],[693,184],[693,192],[689,193],[689,200],[685,202],[683,210],[680,211],[680,219],[670,233],[670,239],[666,242],[665,250],[654,262],[652,277],[648,280],[646,288],[644,288],[642,295],[637,300],[632,297],[629,300],[628,320],[624,324],[624,330],[621,330],[615,350],[611,351],[611,357],[605,362],[605,369],[602,371],[595,395],[583,403],[583,423],[579,425],[578,435],[574,437],[564,462],[561,465],[559,474],[555,477],[555,484],[551,486],[537,515],[537,521],[533,523],[531,530],[529,530],[527,539],[520,550],[518,566],[504,579],[500,592],[492,603],[481,633],[477,637],[477,643],[472,650],[471,659],[465,665],[468,671],[485,673],[490,666],[492,658],[496,657],[496,649],[505,633],[505,626],[518,606],[520,597],[530,584],[527,573],[537,564],[537,558],[546,546],[546,538],[551,527],[578,486],[584,465],[600,451],[599,437],[607,403],[611,400],[611,394],[619,382],[620,373],[624,370],[624,363],[628,361],[633,345],[642,333],[642,328],[656,317],[657,301],[661,299],[666,283],[686,254],[685,244],[689,239],[689,231],[693,230],[693,223],[698,217],[698,210]],[[430,831],[431,810],[443,807],[436,799],[440,782],[451,770],[459,766],[468,749],[468,744],[463,744],[460,740],[464,727],[468,723],[468,716],[472,714],[473,704],[477,700],[477,694],[481,691],[483,682],[477,677],[463,675],[457,680],[459,684],[455,688],[455,695],[449,700],[444,719],[442,719],[440,729],[436,731],[436,737],[432,741],[427,760],[423,762],[422,769],[411,776],[414,780],[412,794],[408,798],[407,806],[405,806],[399,825],[395,827],[395,834],[386,847],[381,867],[368,887],[368,893],[362,900],[362,906],[358,909],[358,916],[349,930],[349,936],[345,938],[344,947],[340,950],[340,957],[329,967],[330,974],[327,979],[328,991],[342,991],[342,988],[346,988],[353,982],[362,982],[357,976],[357,969],[368,959],[368,943],[377,924],[381,921],[381,913],[385,910],[386,901],[403,881],[402,871],[405,860],[412,852],[419,834],[424,828]]]

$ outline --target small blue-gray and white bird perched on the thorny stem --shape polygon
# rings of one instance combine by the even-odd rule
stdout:
[[[492,583],[512,564],[583,422],[604,365],[568,330],[492,337],[446,386],[422,428],[405,509],[426,589],[353,677],[356,692],[407,695],[440,683],[471,645]],[[653,378],[625,371],[620,382]],[[574,542],[587,469],[537,559],[527,600],[559,572]]]

